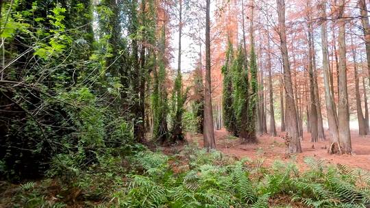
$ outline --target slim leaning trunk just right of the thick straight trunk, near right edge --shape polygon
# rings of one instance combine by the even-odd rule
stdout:
[[[355,93],[356,93],[356,110],[357,110],[357,120],[358,120],[358,134],[359,135],[366,135],[367,134],[367,127],[366,121],[364,118],[364,114],[362,114],[362,107],[361,107],[361,97],[360,97],[360,81],[358,80],[358,69],[357,69],[357,61],[356,61],[356,49],[354,45],[353,37],[351,36],[351,51],[352,57],[354,58],[354,79],[355,79]]]

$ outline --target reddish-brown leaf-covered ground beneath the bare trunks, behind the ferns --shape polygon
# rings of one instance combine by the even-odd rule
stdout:
[[[304,132],[301,140],[302,153],[297,155],[286,154],[286,146],[282,135],[278,132],[277,137],[261,135],[258,144],[241,144],[238,138],[230,136],[225,129],[214,131],[217,150],[237,158],[249,157],[251,159],[263,159],[264,165],[271,165],[275,160],[295,161],[300,170],[306,169],[305,157],[322,159],[328,164],[344,164],[351,168],[370,170],[370,136],[359,136],[357,132],[351,131],[351,142],[353,155],[330,155],[328,154],[328,141],[312,143],[310,133]],[[328,134],[328,132],[326,132]],[[197,142],[203,146],[201,135],[187,134],[189,142]]]

